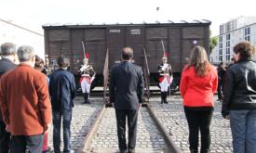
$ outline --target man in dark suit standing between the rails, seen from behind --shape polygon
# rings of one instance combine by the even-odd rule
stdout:
[[[122,49],[122,62],[111,70],[110,103],[115,108],[118,143],[121,153],[135,152],[138,110],[144,93],[141,67],[131,63],[133,50]],[[128,117],[128,147],[126,144],[126,118]]]

